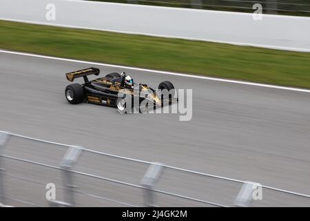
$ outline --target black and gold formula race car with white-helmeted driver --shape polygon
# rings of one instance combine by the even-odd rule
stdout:
[[[83,77],[85,84],[70,84],[65,88],[65,97],[70,104],[87,102],[104,106],[117,107],[121,113],[144,112],[165,104],[178,102],[174,85],[163,81],[154,90],[147,84],[134,84],[133,79],[125,73],[110,73],[105,77],[89,81],[87,75],[99,75],[98,68],[87,68],[66,73],[68,81]],[[137,102],[138,101],[138,102]],[[141,109],[144,103],[144,109]],[[135,107],[136,106],[136,107]],[[130,110],[130,111],[128,111]]]

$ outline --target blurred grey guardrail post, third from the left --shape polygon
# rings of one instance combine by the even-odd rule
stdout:
[[[149,169],[145,173],[141,184],[145,189],[143,190],[144,194],[144,204],[145,206],[155,206],[154,205],[154,184],[158,180],[161,172],[163,171],[163,165],[161,163],[154,162],[149,165]]]

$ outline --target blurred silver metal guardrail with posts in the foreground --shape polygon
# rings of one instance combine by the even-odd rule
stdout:
[[[11,137],[20,137],[20,138],[23,138],[25,140],[32,140],[34,142],[43,142],[45,144],[52,144],[52,145],[55,145],[55,146],[60,146],[60,147],[63,147],[63,148],[68,148],[68,150],[65,153],[65,156],[63,157],[63,160],[61,161],[60,166],[53,166],[53,165],[50,165],[50,164],[43,164],[41,162],[34,162],[32,160],[22,159],[20,157],[13,157],[13,156],[10,156],[10,155],[3,155],[1,153],[1,150],[3,151],[3,148],[6,145],[6,142],[8,141],[8,138],[10,136]],[[114,179],[110,179],[108,177],[94,175],[94,174],[91,174],[91,173],[83,173],[81,171],[74,171],[74,170],[72,170],[72,167],[74,166],[74,163],[78,160],[79,154],[82,151],[83,152],[88,152],[88,153],[95,153],[95,154],[98,154],[98,155],[104,155],[104,156],[107,156],[107,157],[113,157],[113,158],[116,158],[116,159],[119,159],[119,160],[127,160],[127,161],[130,161],[130,162],[138,162],[138,163],[141,163],[141,164],[147,164],[147,165],[149,165],[149,169],[148,169],[147,173],[145,173],[145,176],[143,177],[141,185],[132,184],[132,183],[129,183],[129,182],[123,182],[121,180],[114,180]],[[145,206],[154,206],[154,199],[153,199],[153,196],[152,196],[153,193],[163,193],[165,195],[170,195],[170,196],[173,196],[173,197],[176,197],[176,198],[183,198],[185,200],[191,200],[191,201],[194,201],[194,202],[200,202],[200,203],[203,203],[203,204],[209,204],[211,206],[227,207],[227,206],[225,206],[223,204],[218,204],[216,202],[209,202],[207,200],[191,198],[191,197],[186,196],[186,195],[180,195],[180,194],[176,194],[176,193],[171,193],[171,192],[163,191],[163,190],[160,190],[160,189],[154,189],[154,184],[155,184],[156,180],[158,180],[160,178],[162,169],[172,169],[172,170],[175,170],[175,171],[180,171],[180,172],[184,172],[184,173],[190,173],[190,174],[199,175],[199,176],[203,176],[203,177],[212,177],[212,178],[215,178],[215,179],[218,179],[218,180],[226,180],[226,181],[229,181],[229,182],[237,182],[237,183],[243,184],[242,189],[246,189],[245,185],[249,185],[249,182],[246,182],[246,181],[243,181],[243,180],[237,180],[237,179],[233,179],[233,178],[229,178],[229,177],[223,177],[223,176],[218,176],[218,175],[213,175],[213,174],[209,174],[209,173],[201,173],[201,172],[198,172],[198,171],[191,171],[191,170],[188,170],[188,169],[181,169],[181,168],[178,168],[178,167],[175,167],[175,166],[169,166],[169,165],[160,164],[160,163],[154,163],[154,162],[147,162],[145,160],[137,160],[137,159],[130,158],[130,157],[122,157],[122,156],[113,155],[113,154],[110,154],[110,153],[104,153],[104,152],[100,152],[100,151],[93,151],[93,150],[90,150],[90,149],[87,149],[87,148],[83,148],[83,147],[80,147],[80,146],[72,146],[72,145],[68,145],[68,144],[61,144],[61,143],[57,143],[57,142],[50,142],[50,141],[47,141],[47,140],[40,140],[40,139],[37,139],[37,138],[27,137],[27,136],[24,136],[24,135],[18,135],[18,134],[15,134],[15,133],[9,133],[9,132],[4,132],[4,131],[0,131],[0,169],[1,169],[1,157],[7,158],[7,159],[10,159],[10,160],[17,160],[17,161],[25,162],[25,163],[29,163],[29,164],[35,164],[35,165],[43,166],[43,167],[46,167],[46,168],[56,169],[56,170],[61,171],[63,173],[63,182],[65,184],[65,188],[63,188],[63,190],[66,192],[66,194],[65,194],[65,201],[66,202],[52,202],[54,204],[51,204],[51,205],[57,205],[57,204],[58,205],[63,205],[63,204],[65,204],[67,206],[74,206],[75,205],[74,193],[81,193],[83,195],[88,195],[88,196],[90,196],[92,198],[98,198],[98,199],[101,199],[101,200],[107,200],[107,201],[111,201],[111,202],[116,202],[118,204],[124,204],[125,206],[136,206],[134,204],[130,204],[130,203],[127,203],[127,202],[121,202],[121,201],[118,201],[118,200],[112,200],[112,199],[109,199],[109,198],[103,198],[103,197],[101,197],[99,195],[93,195],[93,194],[89,194],[89,193],[83,193],[81,191],[76,191],[76,189],[74,188],[75,187],[74,183],[72,181],[72,175],[73,174],[83,175],[83,176],[92,177],[92,178],[95,178],[95,179],[98,179],[98,180],[105,180],[107,182],[114,182],[116,184],[121,184],[121,185],[125,185],[125,186],[131,186],[131,187],[136,188],[136,189],[141,189],[141,190],[143,190],[145,192],[145,200],[144,200],[145,201]],[[1,200],[0,203],[3,203],[3,204],[5,204],[5,200],[6,200],[6,192],[3,189],[3,177],[5,177],[5,176],[10,176],[10,175],[5,174],[5,169],[2,168],[0,170],[0,200]],[[20,180],[26,180],[25,178],[21,178],[21,177],[16,177],[16,178],[18,178]],[[36,182],[34,180],[28,180],[28,181]],[[41,183],[41,184],[43,185],[43,183]],[[272,190],[272,191],[277,191],[277,192],[280,192],[280,193],[286,193],[286,194],[289,194],[289,195],[296,195],[298,197],[302,197],[302,198],[306,198],[306,199],[310,200],[310,195],[307,195],[307,194],[296,193],[296,192],[288,191],[288,190],[285,190],[285,189],[278,189],[278,188],[272,187],[272,186],[265,186],[265,185],[260,185],[260,186],[263,189],[269,189],[269,190]],[[240,191],[242,191],[242,189]],[[239,195],[242,195],[242,193],[239,193]],[[245,194],[243,194],[243,195],[245,195]],[[10,200],[18,201],[18,199],[12,199],[12,198]],[[24,202],[24,203],[32,204],[30,202]],[[32,204],[32,205],[35,205],[35,204]],[[39,205],[37,205],[37,206],[39,206]],[[247,206],[247,204],[246,204],[246,206]]]

